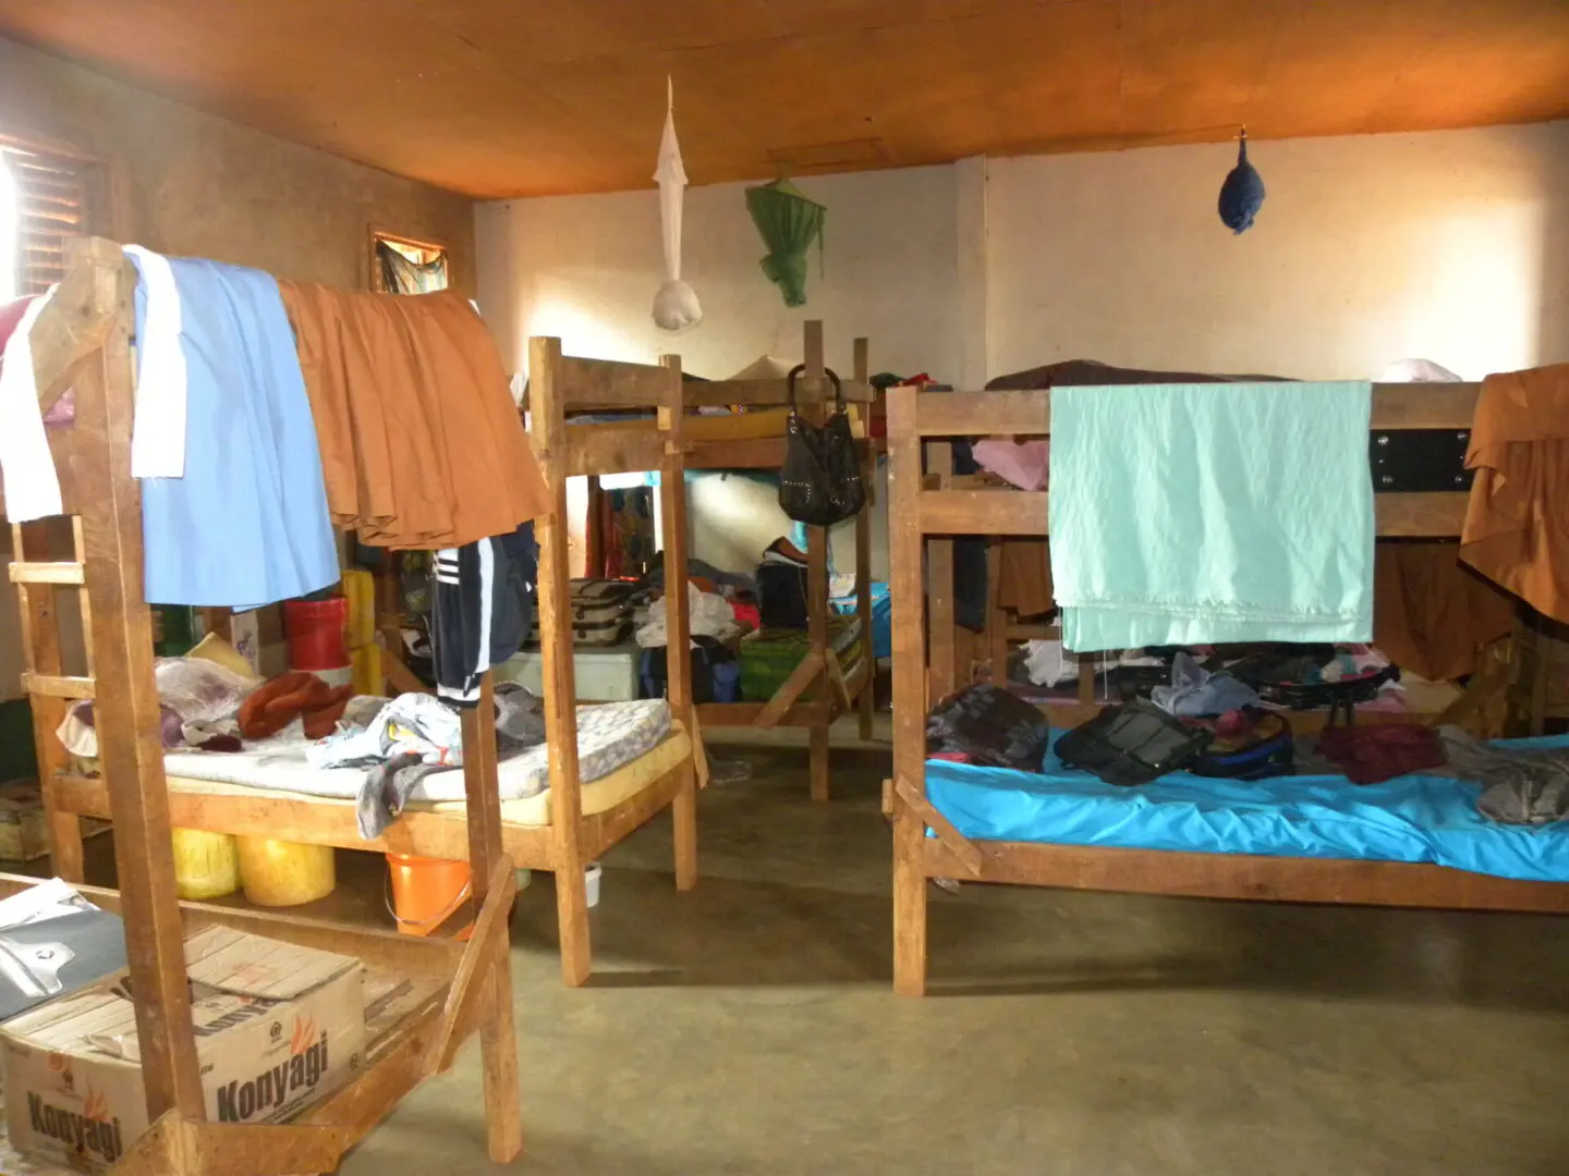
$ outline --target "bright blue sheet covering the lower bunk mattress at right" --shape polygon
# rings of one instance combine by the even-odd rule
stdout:
[[[1563,748],[1569,735],[1498,746]],[[1043,767],[1037,775],[927,760],[926,787],[962,834],[981,840],[1432,862],[1569,881],[1569,820],[1500,825],[1476,811],[1481,787],[1445,776],[1357,786],[1345,776],[1235,781],[1181,771],[1123,789],[1064,767],[1054,750]]]

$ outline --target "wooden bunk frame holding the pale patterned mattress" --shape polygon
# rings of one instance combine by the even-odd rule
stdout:
[[[108,246],[113,248],[113,246]],[[562,978],[582,985],[590,974],[588,900],[584,866],[601,858],[615,844],[645,825],[664,809],[675,817],[675,875],[683,891],[697,884],[697,781],[701,748],[690,715],[689,670],[672,673],[670,734],[653,750],[615,771],[582,784],[574,732],[571,607],[566,579],[566,477],[584,469],[662,469],[667,481],[684,488],[681,450],[681,367],[667,358],[661,367],[612,364],[593,359],[570,359],[560,354],[557,340],[530,340],[533,350],[533,447],[541,472],[555,502],[552,514],[535,522],[540,541],[540,635],[544,663],[544,707],[551,748],[549,787],[527,800],[497,800],[494,737],[486,771],[488,798],[486,837],[494,837],[499,853],[513,867],[552,870],[555,873],[557,922],[562,949]],[[577,403],[610,401],[621,406],[651,408],[657,416],[617,425],[610,436],[565,428],[565,411]],[[634,464],[618,464],[631,461]],[[64,469],[64,466],[61,466]],[[672,495],[667,511],[684,510],[684,497]],[[19,547],[20,550],[20,547]],[[140,552],[140,547],[138,547]],[[684,568],[684,532],[667,546],[667,568]],[[133,564],[140,568],[140,555]],[[27,605],[24,605],[25,610]],[[679,621],[684,626],[684,615]],[[36,626],[35,626],[36,627]],[[27,629],[24,629],[27,633]],[[56,665],[58,651],[41,649],[42,663]],[[391,660],[388,665],[394,665]],[[42,671],[49,674],[50,671]],[[417,685],[417,684],[416,684]],[[41,688],[42,687],[42,688]],[[66,770],[64,750],[53,735],[60,706],[38,706],[41,693],[55,690],[69,698],[71,682],[39,682],[35,674],[28,688],[35,696],[35,737],[39,745],[39,779],[49,815],[55,869],[69,881],[82,881],[80,817],[113,818],[113,767],[99,776],[82,776]],[[490,685],[477,712],[483,723],[493,723]],[[471,723],[475,712],[464,713]],[[468,726],[464,728],[468,745]],[[163,773],[160,770],[160,781]],[[279,789],[286,784],[279,784]],[[474,804],[438,803],[411,806],[381,837],[359,836],[355,803],[287,790],[218,784],[204,779],[169,776],[166,800],[169,822],[176,828],[273,837],[309,845],[333,845],[348,850],[469,861],[474,867],[475,902],[482,897],[482,873],[491,869],[491,858],[475,856],[471,834]],[[118,823],[118,822],[116,822]]]

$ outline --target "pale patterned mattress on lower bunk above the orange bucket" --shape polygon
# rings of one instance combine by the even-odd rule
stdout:
[[[679,739],[673,740],[673,734],[678,734]],[[672,742],[690,748],[690,739],[679,729],[672,729],[670,704],[665,699],[577,707],[577,764],[579,779],[585,786],[612,776],[626,765],[634,765],[648,753]],[[282,743],[267,750],[231,754],[168,751],[163,756],[163,768],[169,778],[169,787],[174,790],[213,792],[212,787],[204,786],[217,784],[231,786],[242,793],[256,790],[292,792],[351,803],[359,795],[366,768],[314,768],[306,762],[306,746],[309,745],[303,742]],[[664,754],[668,756],[672,751],[665,748]],[[681,756],[675,754],[673,762],[679,762],[679,759]],[[529,748],[501,760],[496,775],[504,806],[516,806],[541,797],[549,787],[549,746]],[[414,789],[411,804],[428,808],[461,803],[463,798],[463,771],[455,770],[436,773],[420,781]],[[615,803],[618,801],[610,800],[604,806],[610,808]],[[543,822],[529,820],[526,823],[548,823],[548,817]]]

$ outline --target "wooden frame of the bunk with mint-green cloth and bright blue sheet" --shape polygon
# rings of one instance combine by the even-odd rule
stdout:
[[[1373,428],[1470,428],[1476,384],[1374,384]],[[1037,842],[970,840],[927,800],[926,715],[938,696],[932,665],[951,629],[935,622],[927,654],[926,577],[934,601],[952,593],[952,535],[1047,535],[1047,492],[984,488],[952,477],[959,436],[1050,436],[1051,394],[888,392],[890,561],[894,649],[893,815],[894,991],[926,991],[927,880],[959,878],[1128,894],[1260,902],[1357,903],[1487,911],[1569,911],[1569,886],[1514,881],[1406,862],[1172,853]],[[927,447],[923,472],[921,447]],[[1378,533],[1453,536],[1465,494],[1379,494]],[[946,566],[943,549],[946,547]],[[951,604],[949,604],[951,607]],[[949,674],[951,668],[945,668]],[[1478,674],[1480,677],[1480,674]],[[1076,709],[1058,721],[1072,721]],[[930,831],[932,836],[927,836]]]

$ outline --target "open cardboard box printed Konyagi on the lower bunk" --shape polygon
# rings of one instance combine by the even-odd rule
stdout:
[[[212,1123],[293,1118],[359,1069],[364,966],[212,927],[185,941]],[[126,974],[0,1025],[6,1127],[22,1154],[102,1171],[147,1129]]]

